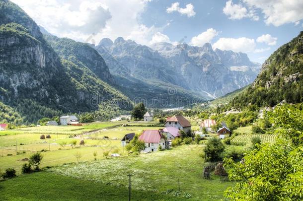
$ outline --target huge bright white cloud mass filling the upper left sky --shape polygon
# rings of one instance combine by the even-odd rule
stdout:
[[[77,41],[122,36],[149,44],[163,27],[147,27],[138,18],[151,0],[12,0],[37,24],[59,37]],[[92,42],[92,40],[88,41]]]

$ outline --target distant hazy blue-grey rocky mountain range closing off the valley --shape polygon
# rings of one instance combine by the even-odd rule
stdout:
[[[162,42],[148,47],[119,37],[114,42],[104,38],[95,49],[114,75],[153,85],[169,83],[204,99],[220,97],[250,84],[260,68],[246,54],[214,51],[210,43],[195,47]]]

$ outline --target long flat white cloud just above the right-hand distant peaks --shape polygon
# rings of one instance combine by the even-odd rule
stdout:
[[[255,40],[245,37],[241,38],[220,38],[214,45],[214,49],[232,50],[234,52],[253,52],[255,49]]]

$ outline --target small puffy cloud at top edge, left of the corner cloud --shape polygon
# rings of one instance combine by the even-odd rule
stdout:
[[[259,16],[255,14],[254,9],[247,10],[242,4],[233,4],[231,0],[226,2],[223,12],[229,19],[242,19],[247,17],[255,21],[259,20]]]

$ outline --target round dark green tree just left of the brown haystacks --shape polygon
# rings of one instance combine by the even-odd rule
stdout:
[[[212,137],[206,142],[205,155],[206,160],[216,162],[222,160],[221,154],[224,151],[224,144],[221,139]]]

